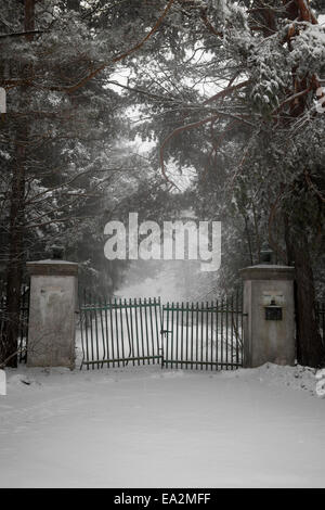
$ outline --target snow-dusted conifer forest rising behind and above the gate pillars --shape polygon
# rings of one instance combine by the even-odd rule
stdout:
[[[105,224],[191,209],[222,221],[221,269],[194,291],[235,289],[271,246],[296,268],[298,361],[322,366],[325,2],[0,3],[1,357],[27,260],[63,245],[81,284],[112,294],[128,262],[105,259]]]

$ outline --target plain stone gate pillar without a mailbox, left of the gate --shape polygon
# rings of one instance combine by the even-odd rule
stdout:
[[[27,263],[30,273],[28,367],[75,367],[78,264]]]

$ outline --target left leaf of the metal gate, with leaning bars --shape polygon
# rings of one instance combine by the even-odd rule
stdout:
[[[89,368],[161,362],[159,299],[108,299],[80,307],[82,362]]]

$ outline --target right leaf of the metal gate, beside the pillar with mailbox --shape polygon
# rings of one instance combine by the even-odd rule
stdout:
[[[164,365],[170,368],[231,369],[243,365],[245,314],[238,299],[167,303],[162,307]]]

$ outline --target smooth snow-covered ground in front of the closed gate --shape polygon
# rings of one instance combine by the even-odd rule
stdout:
[[[1,487],[325,487],[311,369],[6,374]]]

